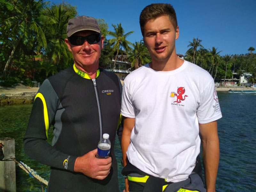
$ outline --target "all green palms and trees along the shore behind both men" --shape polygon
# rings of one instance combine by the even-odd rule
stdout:
[[[0,83],[42,83],[48,76],[72,66],[74,61],[64,39],[68,20],[76,16],[76,7],[67,3],[0,0]],[[133,31],[125,32],[121,23],[112,24],[114,30],[109,31],[108,23],[97,20],[101,34],[105,36],[101,68],[117,68],[119,56],[125,58],[130,70],[150,62],[142,40],[134,44],[127,40]],[[250,72],[249,81],[256,82],[254,47],[249,47],[247,54],[220,56],[222,50],[214,46],[205,48],[202,43],[198,37],[189,41],[185,59],[207,70],[215,80],[224,79],[225,82],[234,72],[239,75]]]

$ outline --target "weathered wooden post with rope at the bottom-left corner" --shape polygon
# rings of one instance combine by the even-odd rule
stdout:
[[[12,138],[0,138],[4,144],[4,160],[15,157],[15,141]],[[16,173],[14,161],[0,161],[0,192],[16,192]]]

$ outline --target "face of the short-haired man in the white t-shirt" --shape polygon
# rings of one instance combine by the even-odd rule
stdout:
[[[144,44],[153,62],[167,61],[175,49],[178,37],[179,27],[175,29],[166,15],[149,20],[144,26]]]

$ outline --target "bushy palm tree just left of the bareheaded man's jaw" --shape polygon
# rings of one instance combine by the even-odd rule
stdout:
[[[135,44],[133,44],[133,51],[130,53],[131,66],[137,69],[150,62],[149,58],[150,54],[142,40],[140,40],[140,42],[135,42]]]

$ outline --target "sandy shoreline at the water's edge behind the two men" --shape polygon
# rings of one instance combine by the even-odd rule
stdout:
[[[28,87],[22,84],[16,84],[12,87],[0,86],[0,106],[10,104],[31,104],[34,102],[38,89],[39,87]],[[255,90],[251,87],[216,87],[217,92],[228,92],[230,89],[233,91]]]

